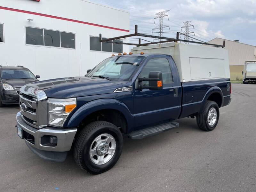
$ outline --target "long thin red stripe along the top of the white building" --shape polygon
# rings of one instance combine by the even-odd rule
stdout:
[[[43,16],[43,17],[50,17],[50,18],[54,18],[54,19],[72,21],[72,22],[76,22],[76,23],[83,23],[83,24],[86,24],[86,25],[93,25],[93,26],[97,26],[97,27],[103,27],[103,28],[114,29],[114,30],[118,30],[118,31],[129,32],[129,30],[126,30],[126,29],[108,27],[108,26],[105,26],[105,25],[99,25],[99,24],[89,23],[89,22],[85,22],[85,21],[68,19],[68,18],[53,16],[53,15],[47,15],[47,14],[43,14],[43,13],[37,13],[37,12],[31,12],[31,11],[25,11],[25,10],[13,9],[13,8],[9,8],[9,7],[1,7],[1,6],[0,6],[0,9],[9,10],[9,11],[16,11],[16,12],[21,12],[21,13],[28,13],[28,14],[32,14],[32,15],[39,15],[39,16]]]

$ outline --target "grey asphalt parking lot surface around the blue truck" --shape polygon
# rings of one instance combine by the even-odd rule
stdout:
[[[156,136],[124,137],[119,161],[100,175],[80,170],[72,152],[62,163],[36,156],[17,135],[18,106],[0,108],[0,191],[256,191],[255,95],[255,84],[232,84],[212,132],[184,118]]]

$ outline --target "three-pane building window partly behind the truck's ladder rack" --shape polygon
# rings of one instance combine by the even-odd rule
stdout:
[[[105,40],[106,38],[102,38]],[[114,40],[115,42],[122,43],[121,40]],[[100,42],[100,37],[90,36],[90,50],[91,51],[104,51],[104,52],[123,52],[123,44],[113,44]]]

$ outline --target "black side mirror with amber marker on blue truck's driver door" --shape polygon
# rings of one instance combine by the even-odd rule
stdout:
[[[139,84],[138,89],[161,90],[163,89],[163,75],[161,71],[150,71],[148,78],[139,77],[138,82],[148,81],[148,86]]]

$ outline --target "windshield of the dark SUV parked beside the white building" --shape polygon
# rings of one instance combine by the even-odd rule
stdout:
[[[3,69],[1,71],[2,79],[35,79],[36,77],[27,70]]]

